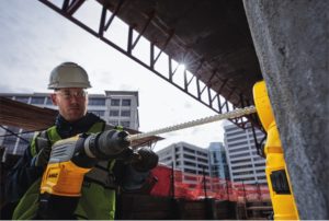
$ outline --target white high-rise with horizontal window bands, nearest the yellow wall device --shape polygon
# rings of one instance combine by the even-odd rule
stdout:
[[[236,125],[224,126],[225,147],[232,182],[245,184],[266,184],[265,159],[257,153],[252,130]],[[264,135],[256,130],[258,140]]]

